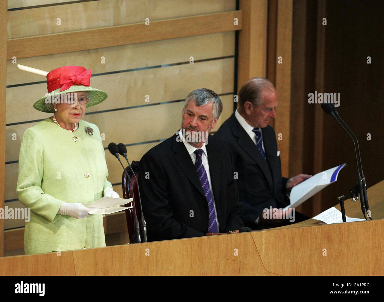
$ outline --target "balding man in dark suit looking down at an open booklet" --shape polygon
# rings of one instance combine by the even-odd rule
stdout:
[[[285,224],[287,219],[271,219],[273,212],[275,217],[287,217],[288,213],[283,215],[283,210],[278,209],[289,204],[286,193],[310,175],[281,177],[275,131],[268,125],[270,118],[275,118],[277,106],[276,90],[269,80],[248,80],[239,91],[238,104],[214,138],[232,150],[245,226],[263,229]],[[296,212],[295,216],[298,222],[301,214]]]

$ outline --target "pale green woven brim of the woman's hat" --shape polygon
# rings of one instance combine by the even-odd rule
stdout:
[[[64,93],[87,91],[90,95],[90,100],[88,101],[86,106],[87,108],[103,102],[108,97],[108,95],[102,90],[92,88],[89,86],[83,86],[83,85],[72,85],[70,88],[66,90],[63,90],[63,91],[59,91],[59,90],[60,88],[54,91],[51,91],[50,93],[47,93],[35,104],[33,104],[33,108],[42,112],[54,113],[55,110],[53,108],[52,102],[55,99],[55,95],[62,95]]]

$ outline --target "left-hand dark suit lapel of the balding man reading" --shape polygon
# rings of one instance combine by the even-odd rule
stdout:
[[[247,153],[255,161],[255,163],[260,166],[260,169],[263,171],[263,174],[268,180],[270,188],[273,188],[272,175],[268,162],[263,158],[263,155],[258,150],[255,143],[253,143],[247,132],[245,132],[244,128],[237,121],[234,113],[231,116],[230,123],[233,135],[237,136],[238,138],[238,144],[244,150],[244,152]],[[263,136],[263,142],[265,142],[264,139],[265,137]],[[265,150],[267,150],[268,146],[266,144],[264,144],[264,146]]]

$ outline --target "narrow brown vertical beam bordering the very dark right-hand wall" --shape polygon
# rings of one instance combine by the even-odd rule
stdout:
[[[325,68],[325,30],[323,26],[323,18],[326,17],[326,0],[319,0],[317,7],[317,39],[316,39],[316,74],[315,74],[315,89],[318,92],[324,93],[324,68]],[[323,171],[323,124],[324,112],[316,110],[314,113],[314,150],[313,150],[313,171],[316,173]],[[321,211],[321,199],[323,192],[313,196],[313,211]]]

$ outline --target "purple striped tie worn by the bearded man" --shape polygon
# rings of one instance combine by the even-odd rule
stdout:
[[[203,150],[197,149],[195,151],[195,154],[196,154],[195,169],[197,172],[197,176],[199,176],[200,183],[203,187],[205,198],[208,201],[208,212],[209,212],[208,232],[209,233],[218,233],[216,214],[215,214],[215,208],[214,208],[214,199],[212,197],[212,193],[211,193],[211,190],[209,188],[209,181],[208,181],[207,172],[205,171],[204,166],[203,166],[203,162],[201,160]]]

